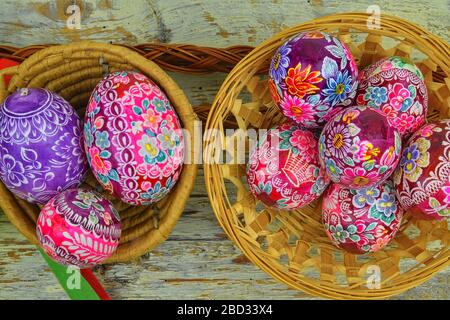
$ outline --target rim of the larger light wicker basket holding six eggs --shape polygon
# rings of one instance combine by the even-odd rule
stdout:
[[[208,119],[206,122],[206,132],[208,133],[209,129],[220,129],[220,115],[225,114],[230,111],[231,107],[222,107],[223,104],[227,106],[233,103],[234,98],[231,97],[231,91],[236,88],[242,89],[240,86],[244,86],[241,81],[242,74],[245,74],[249,78],[249,69],[251,68],[252,61],[264,57],[268,54],[268,48],[270,45],[274,43],[278,43],[281,45],[282,41],[287,38],[293,36],[294,34],[305,31],[305,27],[308,27],[308,30],[323,30],[325,29],[327,24],[340,24],[341,26],[335,27],[336,30],[358,30],[361,33],[369,33],[366,25],[362,25],[362,21],[367,21],[367,18],[370,17],[368,13],[359,13],[359,12],[350,12],[350,13],[340,13],[340,14],[332,14],[329,16],[317,18],[314,20],[310,20],[296,26],[287,28],[282,32],[274,35],[270,39],[265,40],[263,43],[258,45],[254,50],[252,50],[244,59],[242,59],[235,68],[228,74],[226,79],[224,80],[221,88],[216,94],[214,102],[212,104],[210,113],[208,115]],[[382,14],[380,17],[380,21],[382,24],[382,28],[380,30],[370,30],[370,33],[374,33],[381,36],[388,36],[395,39],[398,39],[400,36],[405,38],[408,43],[414,43],[415,41],[420,43],[433,43],[435,47],[438,47],[439,54],[441,56],[446,56],[447,59],[443,61],[446,64],[442,65],[442,60],[439,60],[436,55],[428,55],[428,58],[435,63],[436,65],[440,65],[447,78],[445,81],[450,83],[449,74],[450,74],[450,61],[448,60],[448,56],[450,55],[450,45],[444,41],[443,39],[433,35],[422,27],[406,21],[404,19],[398,18],[393,15]],[[396,26],[397,31],[401,31],[402,33],[399,35],[393,31],[384,30],[386,27]],[[402,39],[398,39],[402,40]],[[438,49],[430,49],[433,53]],[[439,55],[438,55],[439,56]],[[439,63],[438,63],[439,62]],[[239,70],[239,71],[237,71]],[[239,74],[238,74],[239,72]],[[225,101],[226,102],[223,102]],[[211,141],[211,136],[208,134],[205,136],[205,142],[203,145],[203,149],[207,150],[208,141]],[[407,289],[410,289],[420,283],[423,283],[430,279],[435,273],[439,270],[450,266],[450,250],[447,250],[440,254],[442,257],[434,258],[434,261],[431,265],[434,267],[426,268],[425,270],[421,270],[420,280],[419,281],[404,281],[402,285],[384,285],[382,289],[378,290],[369,290],[369,289],[361,289],[361,290],[351,290],[345,287],[329,287],[324,283],[320,283],[321,280],[299,280],[297,282],[288,281],[284,276],[286,276],[287,272],[281,270],[281,264],[276,267],[270,265],[267,261],[264,261],[264,256],[261,254],[263,249],[261,248],[253,248],[256,247],[254,244],[250,243],[244,236],[241,236],[240,227],[233,221],[233,209],[231,208],[231,203],[229,203],[229,199],[225,196],[220,196],[218,193],[215,194],[214,186],[216,186],[216,191],[219,187],[217,185],[224,185],[224,177],[222,171],[220,170],[220,164],[205,164],[204,172],[205,172],[205,184],[208,192],[208,197],[210,202],[218,203],[220,202],[222,211],[219,210],[218,207],[213,206],[213,212],[224,229],[225,233],[228,237],[241,249],[241,251],[246,255],[246,257],[254,263],[258,268],[262,271],[269,274],[271,277],[276,279],[279,282],[282,282],[289,286],[290,288],[302,290],[306,293],[325,297],[325,298],[338,298],[338,299],[380,299],[387,298],[399,294]],[[209,183],[211,181],[211,184]],[[222,187],[223,193],[227,193],[224,187]],[[226,199],[224,199],[226,198]],[[258,255],[257,253],[260,253]],[[424,269],[424,268],[421,268]],[[426,271],[426,272],[424,272]],[[411,271],[408,271],[411,272]],[[319,285],[318,285],[319,284]]]

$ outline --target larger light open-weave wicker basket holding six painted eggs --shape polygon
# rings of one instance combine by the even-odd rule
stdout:
[[[306,30],[338,36],[360,68],[386,56],[411,58],[428,87],[428,119],[449,117],[449,45],[397,17],[383,15],[380,28],[372,29],[369,19],[362,13],[319,18],[283,31],[248,54],[228,75],[213,103],[204,144],[206,161],[219,154],[213,146],[225,146],[229,121],[242,130],[269,128],[283,121],[270,97],[267,77],[258,76],[257,71],[268,69],[284,41]],[[228,142],[239,135],[228,136]],[[270,209],[249,192],[245,174],[242,164],[205,165],[211,205],[225,232],[246,256],[292,288],[326,298],[386,298],[417,286],[450,264],[447,221],[418,221],[407,215],[387,248],[357,256],[331,244],[321,222],[321,199],[294,213]],[[368,283],[376,284],[372,279],[378,275],[379,288],[370,289],[377,287]]]

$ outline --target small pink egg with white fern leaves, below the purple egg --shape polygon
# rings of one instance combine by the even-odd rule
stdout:
[[[69,189],[42,208],[36,232],[42,248],[56,262],[91,268],[119,245],[120,216],[101,194]]]

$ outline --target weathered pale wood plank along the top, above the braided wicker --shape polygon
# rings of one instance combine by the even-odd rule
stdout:
[[[370,5],[449,39],[449,6],[442,0],[77,0],[81,29],[70,30],[66,9],[72,2],[2,1],[0,42],[23,46],[91,39],[127,44],[255,45],[286,27],[336,12],[365,12]]]

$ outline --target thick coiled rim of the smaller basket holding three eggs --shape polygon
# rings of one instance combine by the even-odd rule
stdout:
[[[153,61],[146,59],[127,47],[114,44],[79,41],[69,44],[54,45],[35,52],[30,57],[26,58],[20,65],[0,71],[0,80],[2,80],[1,78],[4,75],[13,76],[7,88],[4,86],[4,82],[0,81],[0,101],[3,101],[7,94],[13,92],[14,89],[24,85],[26,86],[30,81],[28,78],[30,70],[41,68],[46,71],[51,71],[51,68],[53,67],[49,62],[51,59],[62,59],[68,63],[71,59],[75,59],[73,58],[73,55],[78,55],[77,58],[83,60],[90,59],[89,55],[92,55],[94,59],[96,59],[96,54],[101,58],[105,57],[105,61],[108,61],[108,57],[118,57],[123,64],[130,65],[135,70],[139,70],[149,76],[149,78],[157,83],[168,96],[180,117],[182,127],[191,133],[194,132],[194,121],[197,121],[198,117],[194,113],[187,96],[175,80]],[[99,64],[101,62],[102,61],[99,61]],[[193,139],[193,134],[191,134],[190,138],[191,140]],[[192,144],[192,141],[190,141],[190,143]],[[191,159],[193,159],[194,148],[191,149],[190,156]],[[194,187],[196,175],[197,165],[195,163],[183,164],[183,169],[175,188],[162,200],[165,201],[165,199],[169,199],[168,197],[175,197],[176,195],[177,201],[165,201],[168,202],[164,203],[164,209],[167,212],[161,216],[158,228],[146,231],[137,238],[124,243],[122,246],[119,245],[116,252],[102,263],[125,262],[136,259],[166,240],[183,213],[184,206]],[[8,219],[30,242],[38,245],[34,221],[32,221],[23,210],[17,210],[18,204],[16,201],[21,200],[15,198],[3,183],[0,183],[0,195],[2,198],[5,198],[2,199],[0,207],[3,209]],[[22,204],[29,207],[33,206],[31,204]]]

